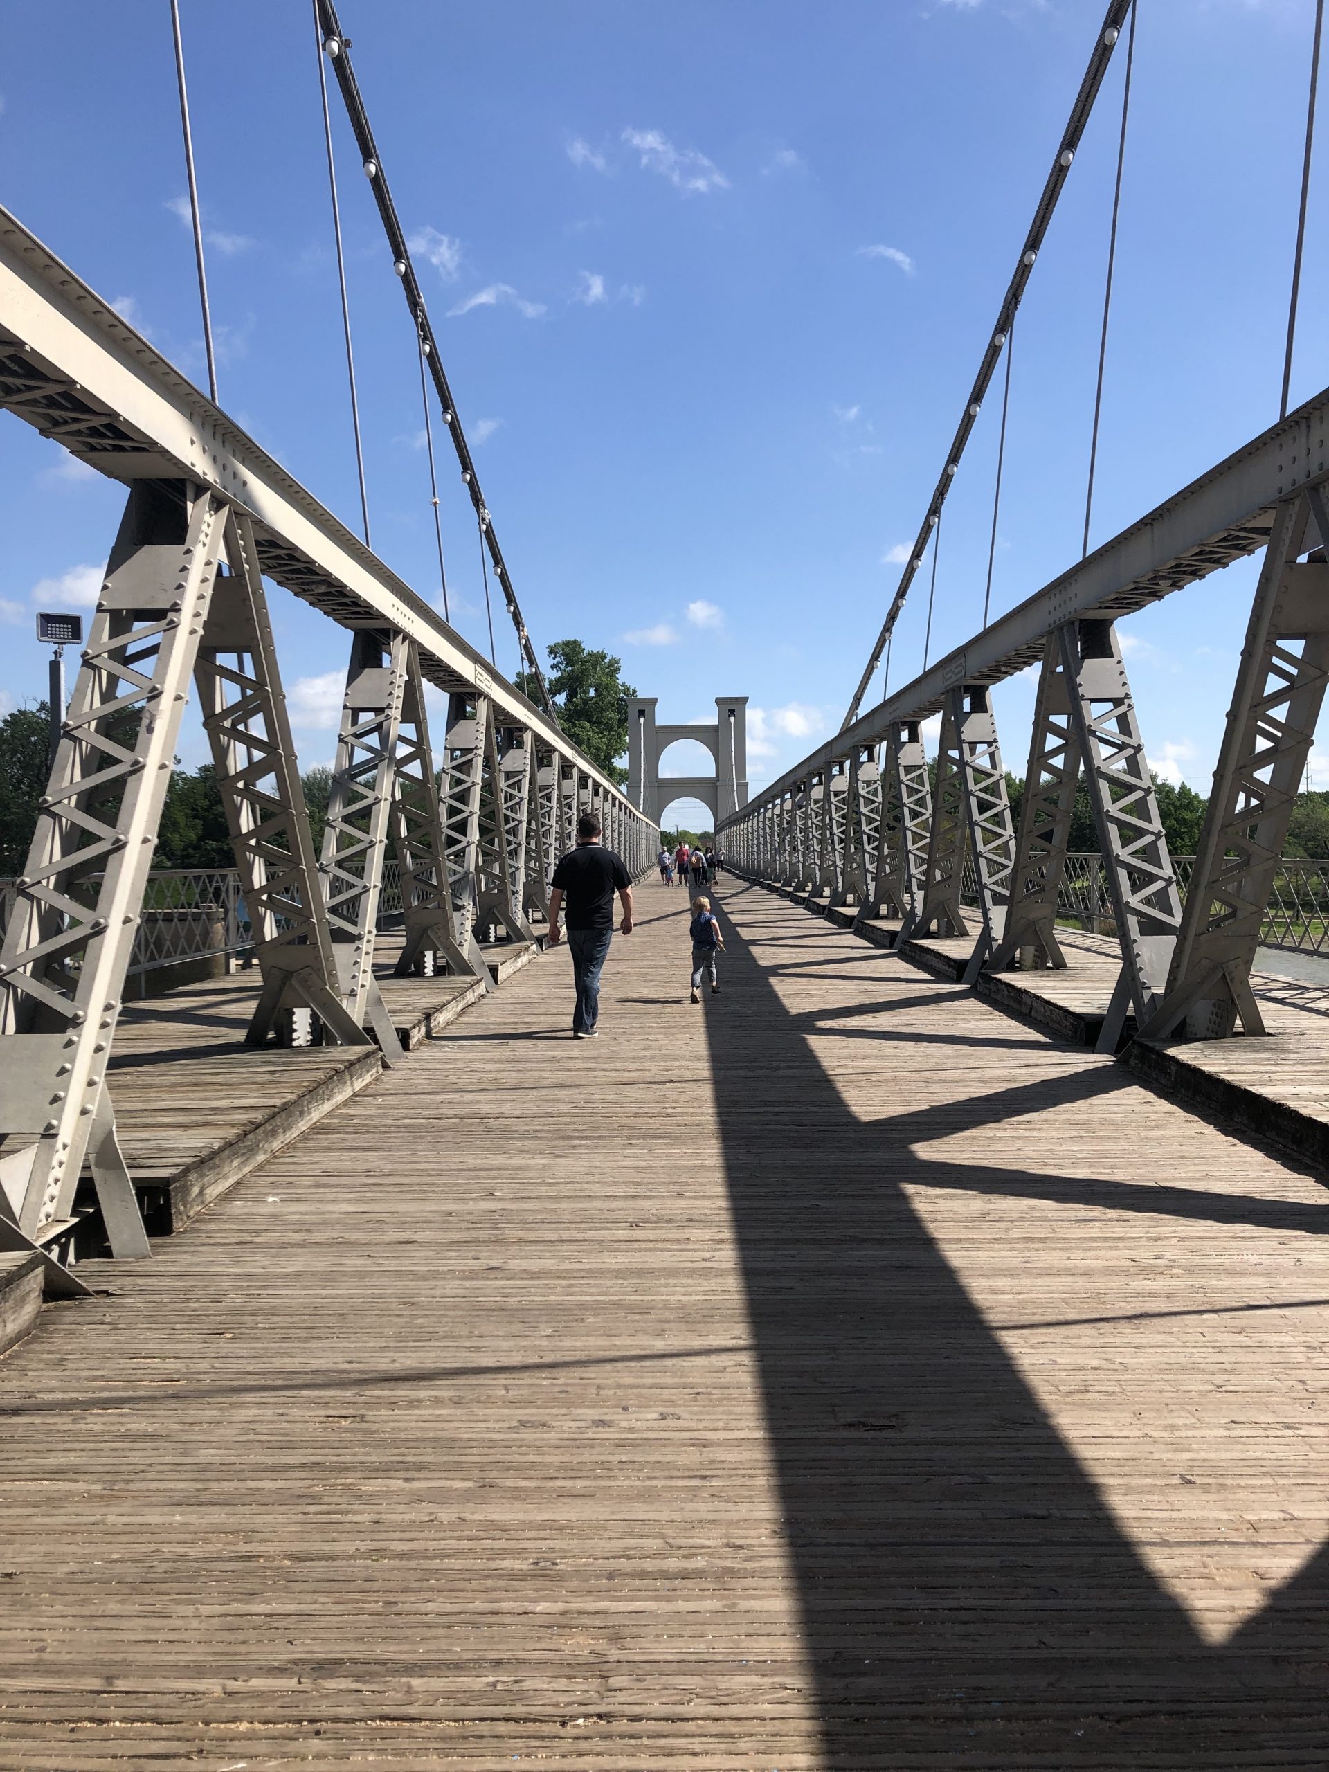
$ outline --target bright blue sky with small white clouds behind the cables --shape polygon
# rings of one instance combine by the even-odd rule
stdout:
[[[1141,7],[1095,540],[1276,418],[1301,172],[1313,0]],[[342,12],[537,643],[610,647],[661,719],[746,693],[753,783],[773,778],[858,680],[1102,5]],[[222,404],[356,525],[310,9],[183,14]],[[202,379],[165,0],[9,0],[5,44],[2,200]],[[1122,64],[1021,312],[994,610],[1079,555]],[[374,546],[432,599],[413,335],[335,122]],[[1320,156],[1294,402],[1329,383],[1327,175]],[[934,656],[982,613],[998,409],[946,507]],[[454,618],[487,643],[470,501],[439,459]],[[0,707],[44,691],[34,604],[96,595],[120,501],[0,424]],[[1123,626],[1150,760],[1201,789],[1251,583],[1235,567]],[[921,664],[925,604],[921,581],[893,682]],[[324,762],[346,636],[282,592],[275,617],[301,760]],[[1031,705],[1028,679],[998,698],[1017,769]],[[195,727],[183,751],[202,758]],[[1313,774],[1329,787],[1329,755]]]

